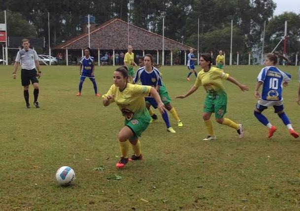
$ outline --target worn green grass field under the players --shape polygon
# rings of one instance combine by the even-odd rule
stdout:
[[[298,68],[280,68],[292,74],[284,105],[294,129],[300,131]],[[112,84],[114,69],[96,67],[100,93]],[[255,119],[253,93],[260,69],[225,69],[250,88],[242,92],[224,82],[229,96],[226,117],[243,123],[245,137],[238,140],[235,130],[213,121],[218,140],[204,142],[204,90],[174,99],[190,89],[195,76],[187,82],[185,66],[162,67],[172,105],[184,126],[179,128],[169,115],[177,131],[170,134],[159,116],[140,139],[144,159],[118,170],[117,134],[124,119],[115,104],[102,106],[89,80],[82,96],[75,96],[78,66],[41,67],[39,109],[25,108],[20,70],[13,80],[12,66],[0,66],[0,210],[299,211],[300,139],[289,135],[272,109],[264,112],[277,126],[271,140],[266,127]],[[74,169],[76,180],[60,187],[55,173],[65,165]],[[104,170],[94,170],[100,166]]]

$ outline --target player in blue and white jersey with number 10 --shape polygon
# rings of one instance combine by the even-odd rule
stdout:
[[[292,124],[283,110],[282,88],[287,86],[291,81],[291,75],[279,70],[275,65],[277,56],[287,60],[282,55],[268,54],[265,59],[265,65],[257,77],[254,95],[258,99],[254,116],[258,121],[262,122],[268,128],[268,138],[271,138],[276,131],[276,127],[272,125],[262,112],[269,106],[273,106],[274,112],[287,126],[289,133],[298,138],[299,134],[293,129]],[[260,87],[263,86],[262,94],[259,93]]]

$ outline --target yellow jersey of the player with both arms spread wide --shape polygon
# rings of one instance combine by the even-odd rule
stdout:
[[[224,73],[216,67],[210,67],[207,72],[201,69],[194,86],[197,88],[203,86],[209,98],[218,98],[219,95],[226,94],[222,79],[227,79],[228,77],[228,73]]]

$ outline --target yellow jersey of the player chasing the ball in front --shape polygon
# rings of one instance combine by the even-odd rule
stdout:
[[[102,95],[102,98],[107,97],[107,95],[114,94],[114,98],[111,99],[110,102],[117,103],[123,116],[128,121],[133,118],[150,118],[144,98],[149,95],[150,89],[150,86],[128,83],[125,90],[120,91],[119,87],[111,85],[107,93]]]

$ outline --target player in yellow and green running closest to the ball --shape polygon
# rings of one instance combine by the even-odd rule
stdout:
[[[104,106],[116,102],[125,117],[125,126],[120,130],[118,139],[121,150],[121,158],[116,164],[117,168],[123,168],[128,162],[129,143],[134,154],[131,160],[140,160],[142,153],[138,137],[146,130],[150,123],[150,115],[145,105],[145,96],[151,94],[158,103],[158,109],[165,113],[165,106],[159,93],[150,86],[133,85],[128,83],[127,67],[117,68],[113,73],[113,82],[110,89],[102,96]]]

